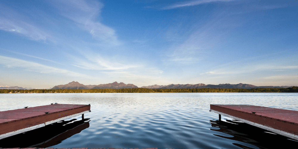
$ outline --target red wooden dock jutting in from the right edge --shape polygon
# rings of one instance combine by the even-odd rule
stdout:
[[[210,112],[298,141],[298,111],[255,105],[210,105]]]

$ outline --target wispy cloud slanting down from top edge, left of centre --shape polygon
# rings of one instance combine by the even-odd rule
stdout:
[[[60,10],[62,16],[75,21],[76,24],[87,30],[93,37],[112,45],[119,45],[115,30],[96,21],[103,4],[98,1],[53,1],[52,4]]]

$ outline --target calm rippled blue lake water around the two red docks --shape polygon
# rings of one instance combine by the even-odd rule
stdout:
[[[298,111],[297,101],[297,93],[0,94],[0,111],[91,104],[83,120],[1,139],[0,148],[296,148],[297,141],[228,117],[219,122],[209,110],[210,104],[249,104]]]

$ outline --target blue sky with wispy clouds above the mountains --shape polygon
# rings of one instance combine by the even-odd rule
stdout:
[[[0,86],[298,86],[298,1],[0,0]]]

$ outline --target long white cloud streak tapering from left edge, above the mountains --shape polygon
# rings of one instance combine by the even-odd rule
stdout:
[[[33,71],[33,72],[49,73],[49,74],[64,75],[64,76],[71,76],[71,77],[89,78],[89,79],[94,78],[89,75],[84,75],[84,74],[72,72],[65,69],[54,68],[54,67],[45,66],[39,63],[29,62],[29,61],[10,58],[10,57],[1,56],[1,55],[0,55],[0,64],[9,68],[20,67],[20,68],[24,68],[24,70]]]

